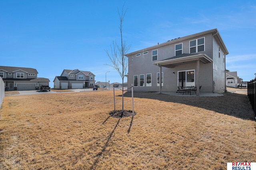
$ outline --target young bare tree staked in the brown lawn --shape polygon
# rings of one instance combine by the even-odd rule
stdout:
[[[112,64],[107,64],[109,66],[112,66],[114,69],[118,71],[122,78],[122,113],[124,112],[124,77],[127,74],[128,69],[128,57],[124,56],[130,49],[131,45],[127,45],[126,42],[123,40],[123,22],[124,22],[124,16],[126,14],[126,10],[124,11],[124,5],[122,6],[122,12],[119,12],[119,30],[120,30],[120,38],[121,38],[121,44],[118,45],[116,41],[113,41],[113,45],[110,45],[111,47],[111,53],[108,52],[108,50],[105,50],[108,57],[110,58],[110,61]]]

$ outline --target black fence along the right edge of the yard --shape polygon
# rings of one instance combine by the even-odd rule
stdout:
[[[256,78],[254,78],[254,80],[251,80],[250,82],[248,82],[247,84],[247,95],[248,98],[250,100],[251,106],[252,106],[252,110],[254,113],[254,118],[256,120],[256,94],[255,94],[255,89],[256,89]]]

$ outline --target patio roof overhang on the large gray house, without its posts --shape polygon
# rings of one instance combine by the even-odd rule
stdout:
[[[181,54],[162,61],[157,61],[153,64],[167,68],[174,68],[182,64],[196,63],[197,60],[200,60],[204,64],[212,63],[212,59],[206,54]]]

